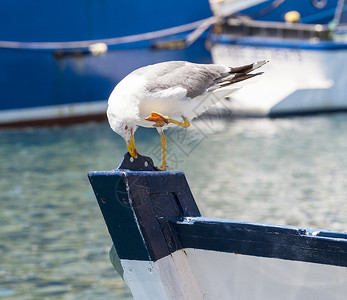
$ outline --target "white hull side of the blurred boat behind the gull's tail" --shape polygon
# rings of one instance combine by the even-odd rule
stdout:
[[[215,44],[214,63],[270,62],[264,74],[223,102],[234,114],[269,116],[347,109],[347,51]]]

